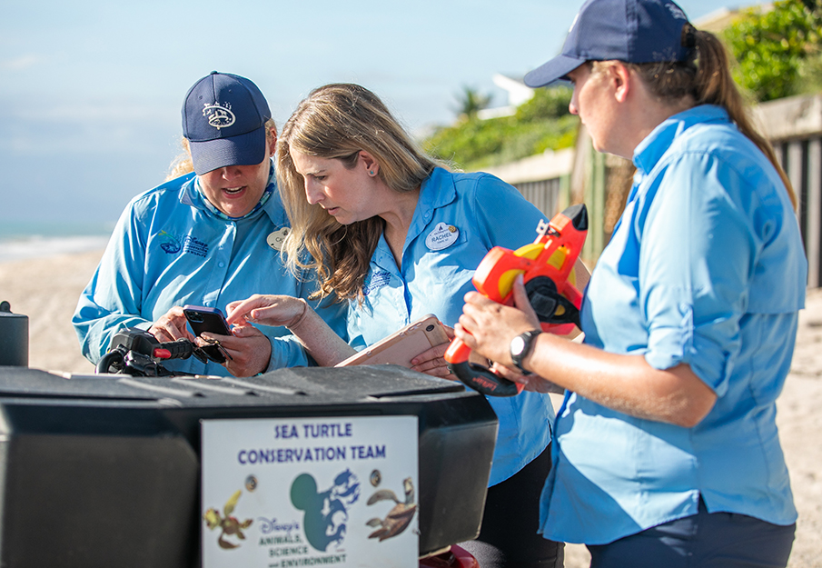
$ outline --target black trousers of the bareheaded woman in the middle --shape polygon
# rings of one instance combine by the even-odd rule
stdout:
[[[540,494],[549,471],[550,445],[512,477],[489,488],[480,536],[460,543],[480,568],[562,568],[565,544],[537,533]]]

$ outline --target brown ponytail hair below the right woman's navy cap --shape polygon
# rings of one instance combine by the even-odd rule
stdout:
[[[624,64],[635,71],[649,87],[651,94],[662,100],[677,102],[690,96],[695,105],[717,105],[728,112],[739,132],[757,145],[776,168],[794,210],[797,194],[787,174],[777,161],[768,139],[761,135],[749,115],[749,107],[739,93],[728,65],[728,53],[716,35],[686,24],[682,28],[683,45],[693,45],[691,55],[683,62]],[[594,63],[596,67],[596,62]]]

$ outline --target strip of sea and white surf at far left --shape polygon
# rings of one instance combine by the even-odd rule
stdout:
[[[0,219],[0,263],[101,250],[114,222],[99,224]]]

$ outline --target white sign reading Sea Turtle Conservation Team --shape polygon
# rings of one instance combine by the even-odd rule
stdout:
[[[203,421],[203,567],[419,565],[416,416]]]

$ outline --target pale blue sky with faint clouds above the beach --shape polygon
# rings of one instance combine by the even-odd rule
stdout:
[[[312,88],[352,82],[420,133],[453,121],[465,86],[505,105],[491,77],[521,77],[557,55],[582,2],[7,2],[0,236],[113,224],[163,182],[181,151],[183,96],[213,70],[253,80],[278,126]],[[691,20],[723,6],[679,4]]]

